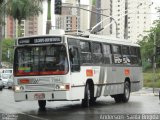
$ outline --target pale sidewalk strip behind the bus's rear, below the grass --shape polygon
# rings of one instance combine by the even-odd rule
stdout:
[[[133,94],[133,95],[153,95],[153,96],[159,96],[159,90],[160,90],[160,88],[155,88],[154,89],[154,93],[153,93],[153,88],[145,88],[145,87],[143,87],[140,91],[133,92],[131,94]]]

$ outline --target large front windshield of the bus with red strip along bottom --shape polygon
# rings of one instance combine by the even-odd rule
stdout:
[[[67,72],[64,45],[17,47],[15,50],[15,76],[64,75]]]

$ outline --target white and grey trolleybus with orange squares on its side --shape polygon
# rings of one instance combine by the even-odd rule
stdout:
[[[63,62],[62,62],[63,60]],[[140,47],[107,36],[52,34],[17,40],[14,55],[14,98],[38,101],[82,100],[93,105],[97,97],[128,102],[142,88]]]

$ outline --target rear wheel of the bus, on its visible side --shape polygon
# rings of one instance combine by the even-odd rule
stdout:
[[[130,98],[130,83],[125,81],[124,83],[124,93],[122,94],[122,102],[128,102]]]

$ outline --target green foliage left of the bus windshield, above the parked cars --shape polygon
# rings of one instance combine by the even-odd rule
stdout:
[[[4,39],[2,40],[2,61],[13,63],[13,52],[14,52],[14,40],[13,39]],[[8,58],[9,51],[9,58]]]

